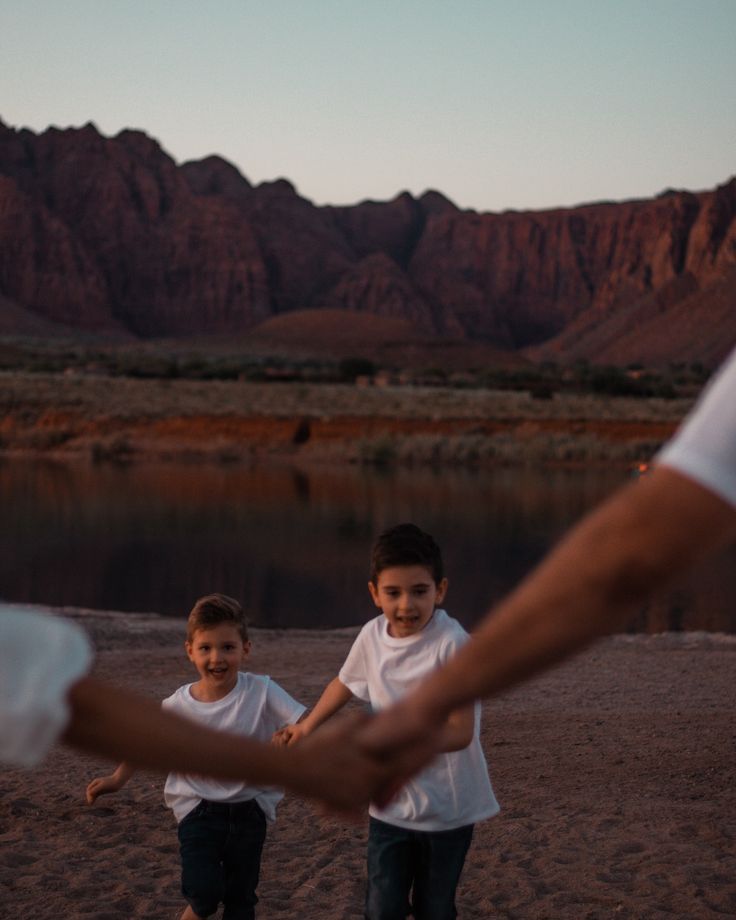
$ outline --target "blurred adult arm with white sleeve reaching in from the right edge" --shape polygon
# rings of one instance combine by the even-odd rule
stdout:
[[[491,610],[457,655],[368,730],[374,750],[421,738],[627,624],[654,592],[736,536],[736,352],[653,472],[588,514]]]

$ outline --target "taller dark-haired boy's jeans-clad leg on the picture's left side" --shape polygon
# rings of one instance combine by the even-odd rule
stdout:
[[[414,832],[370,819],[366,920],[405,920],[409,915]]]

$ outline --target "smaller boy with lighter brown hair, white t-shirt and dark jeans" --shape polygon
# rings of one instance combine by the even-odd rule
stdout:
[[[199,680],[163,701],[173,710],[219,730],[265,741],[305,707],[269,677],[243,672],[250,641],[240,604],[223,594],[200,598],[187,622],[185,648]],[[92,780],[87,801],[121,789],[135,768],[122,763],[110,776]],[[283,793],[247,782],[222,782],[170,773],[164,799],[179,822],[181,920],[214,914],[220,902],[227,920],[253,918],[266,823]]]

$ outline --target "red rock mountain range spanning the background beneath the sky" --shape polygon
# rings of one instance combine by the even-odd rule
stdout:
[[[713,364],[736,342],[735,216],[736,178],[538,212],[317,207],[138,131],[0,122],[0,334],[243,341],[327,309],[533,359]]]

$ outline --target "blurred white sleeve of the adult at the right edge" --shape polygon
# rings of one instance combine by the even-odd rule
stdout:
[[[736,505],[736,351],[655,462],[689,476]]]

